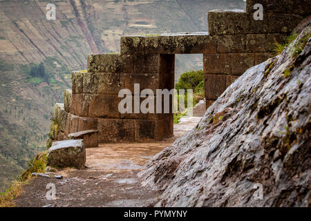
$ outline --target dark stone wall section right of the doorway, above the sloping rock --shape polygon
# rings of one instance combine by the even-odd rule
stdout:
[[[256,3],[263,5],[263,20],[254,19]],[[247,0],[246,12],[210,11],[216,52],[203,55],[207,107],[245,70],[272,57],[275,43],[283,43],[310,11],[308,0]]]

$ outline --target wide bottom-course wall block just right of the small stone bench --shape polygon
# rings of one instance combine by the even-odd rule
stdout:
[[[97,128],[100,143],[135,141],[133,119],[98,119]]]

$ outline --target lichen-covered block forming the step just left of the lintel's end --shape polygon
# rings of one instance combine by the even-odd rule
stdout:
[[[88,55],[88,73],[133,73],[131,55]]]

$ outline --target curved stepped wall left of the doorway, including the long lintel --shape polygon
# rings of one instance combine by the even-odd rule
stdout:
[[[206,32],[195,32],[121,37],[120,54],[89,55],[87,72],[72,75],[71,133],[82,128],[97,129],[100,143],[145,142],[173,136],[173,95],[169,113],[163,112],[163,95],[162,113],[157,113],[156,90],[174,88],[176,54],[215,50]],[[139,84],[140,92],[153,90],[154,113],[136,113],[134,102],[131,113],[120,113],[119,104],[124,99],[118,96],[120,90],[129,89],[132,101],[139,99],[141,103],[145,99],[140,93],[134,94],[135,84]]]

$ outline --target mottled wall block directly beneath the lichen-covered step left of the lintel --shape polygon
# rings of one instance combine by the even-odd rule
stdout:
[[[83,93],[115,94],[124,88],[124,77],[120,73],[84,73]]]

